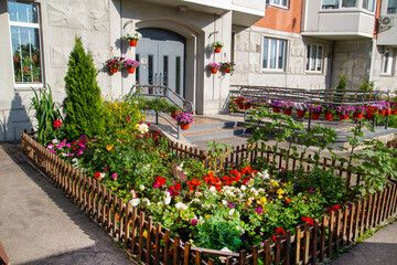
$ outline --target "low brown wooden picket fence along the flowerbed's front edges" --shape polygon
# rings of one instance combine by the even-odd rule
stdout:
[[[303,223],[298,225],[294,232],[287,231],[286,237],[277,236],[275,243],[264,239],[261,246],[253,246],[249,254],[247,251],[228,253],[194,247],[187,242],[181,242],[179,235],[172,235],[171,231],[162,227],[160,223],[154,224],[144,211],[126,204],[101,183],[75,170],[24,132],[22,147],[25,156],[39,170],[115,241],[122,243],[131,255],[146,264],[212,265],[216,256],[225,257],[227,265],[256,265],[259,258],[265,265],[316,264],[331,257],[337,248],[352,245],[366,230],[396,216],[397,187],[389,184],[382,192],[355,201],[351,208],[345,206],[337,212],[324,214],[320,221],[315,220],[313,225]],[[205,152],[200,155],[200,151],[196,151],[195,156],[194,150],[176,148],[175,145],[170,148],[180,156],[205,156]]]

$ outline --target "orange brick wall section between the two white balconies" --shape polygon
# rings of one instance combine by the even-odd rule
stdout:
[[[269,6],[265,18],[254,25],[271,30],[300,33],[302,0],[290,0],[289,9]]]

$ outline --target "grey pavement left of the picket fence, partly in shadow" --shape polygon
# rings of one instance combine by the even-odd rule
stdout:
[[[11,264],[135,264],[19,150],[0,144],[0,241]]]

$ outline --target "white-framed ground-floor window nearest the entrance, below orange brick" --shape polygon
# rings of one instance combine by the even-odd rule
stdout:
[[[264,39],[262,68],[283,71],[287,41]]]

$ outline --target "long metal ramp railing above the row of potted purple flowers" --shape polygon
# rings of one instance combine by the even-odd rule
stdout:
[[[303,88],[287,88],[287,87],[271,87],[271,86],[230,86],[229,97],[238,95],[239,97],[260,99],[262,102],[275,100],[290,100],[292,103],[307,103],[319,105],[369,105],[380,100],[380,97],[389,99],[389,91],[344,91],[339,92],[334,89],[303,89]],[[244,119],[246,118],[246,110],[244,110]],[[302,121],[304,117],[302,118]],[[361,123],[361,121],[358,121]],[[373,119],[375,127],[375,119]],[[311,127],[311,115],[308,118],[308,130]],[[388,127],[388,117],[386,117],[385,129]]]

